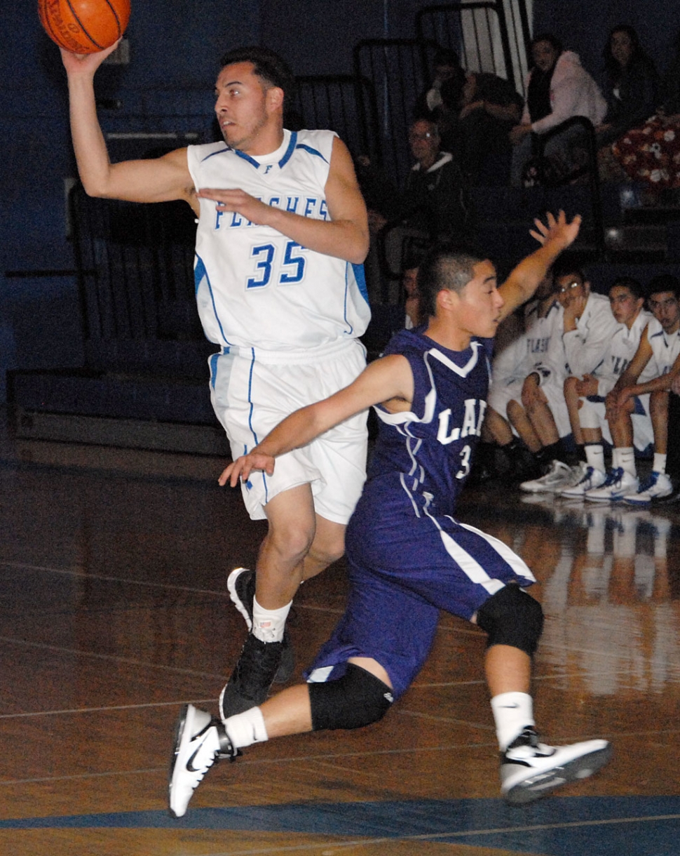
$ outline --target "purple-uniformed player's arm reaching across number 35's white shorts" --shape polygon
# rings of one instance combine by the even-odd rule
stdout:
[[[279,455],[306,446],[324,431],[373,404],[383,402],[389,410],[403,410],[410,407],[412,397],[413,375],[408,360],[399,354],[375,360],[345,389],[283,419],[248,455],[229,464],[219,483],[229,482],[235,487],[239,479],[248,479],[252,470],[271,475]]]

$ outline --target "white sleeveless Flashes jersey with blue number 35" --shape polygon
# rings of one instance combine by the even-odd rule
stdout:
[[[195,187],[239,188],[267,205],[329,220],[324,188],[336,134],[283,133],[279,149],[258,158],[224,142],[189,146]],[[361,265],[216,211],[211,199],[200,199],[194,272],[205,335],[223,348],[309,353],[361,336],[370,320]]]

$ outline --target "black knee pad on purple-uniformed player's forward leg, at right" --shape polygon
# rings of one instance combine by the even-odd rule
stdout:
[[[541,604],[514,584],[505,586],[477,610],[487,645],[511,645],[533,657],[543,630]]]

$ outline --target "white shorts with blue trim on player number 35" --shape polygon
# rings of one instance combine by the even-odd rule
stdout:
[[[234,460],[290,413],[344,389],[366,365],[363,345],[342,341],[294,354],[225,348],[210,362],[210,395]],[[283,490],[310,484],[316,514],[346,524],[366,478],[366,417],[359,413],[321,437],[276,459],[274,475],[251,473],[241,484],[252,520]]]

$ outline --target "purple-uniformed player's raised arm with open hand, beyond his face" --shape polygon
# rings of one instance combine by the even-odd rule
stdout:
[[[517,306],[522,306],[529,300],[559,253],[576,241],[581,216],[577,214],[571,223],[568,223],[565,212],[560,211],[557,219],[548,213],[546,223],[541,220],[535,220],[534,223],[536,228],[532,229],[530,234],[541,247],[523,259],[500,286],[499,291],[504,300],[504,306],[500,310],[501,320],[514,312]]]

